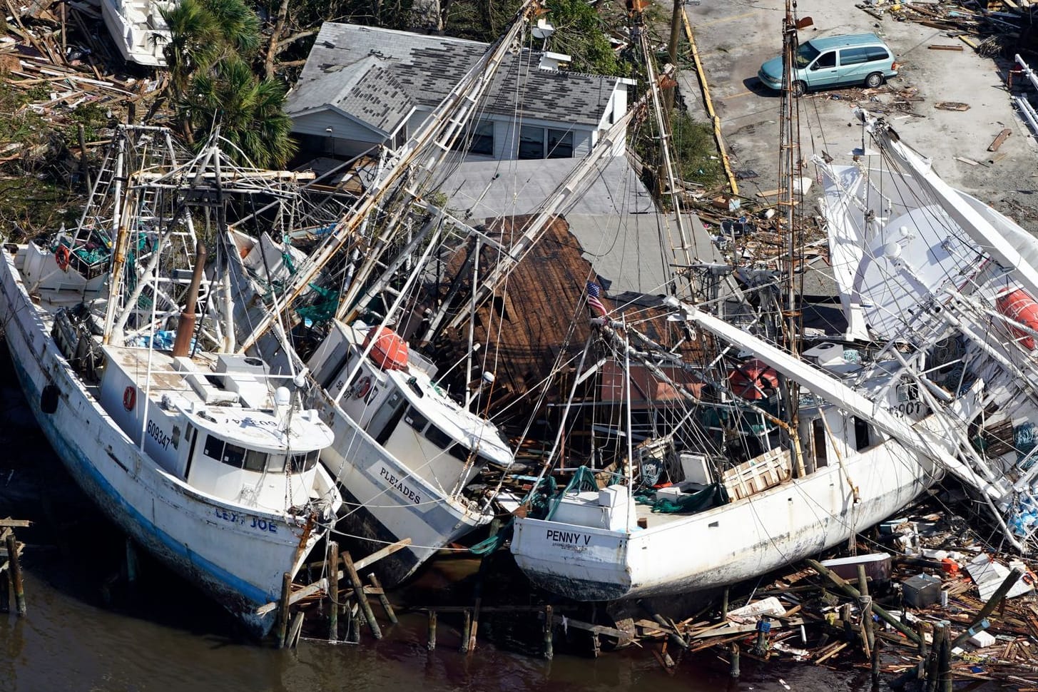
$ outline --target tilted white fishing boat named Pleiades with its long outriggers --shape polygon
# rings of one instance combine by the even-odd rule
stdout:
[[[345,499],[337,530],[372,549],[411,539],[380,561],[377,570],[387,586],[489,524],[493,491],[470,483],[481,470],[502,470],[514,462],[498,427],[473,410],[480,386],[492,383],[493,373],[481,372],[474,389],[452,393],[438,381],[438,367],[408,341],[420,341],[419,331],[428,336],[450,320],[463,321],[488,300],[508,275],[506,264],[521,259],[558,205],[578,193],[580,181],[616,148],[628,122],[627,115],[618,116],[580,162],[580,171],[559,186],[511,247],[429,200],[439,168],[449,168],[443,162],[464,149],[457,144],[471,136],[465,123],[479,112],[495,71],[537,6],[523,3],[509,29],[429,118],[401,146],[383,151],[364,193],[324,229],[302,261],[291,270],[280,261],[292,251],[288,236],[229,233],[236,247],[229,255],[239,352],[274,354],[278,347],[270,339],[277,333],[305,333],[316,341],[306,349],[304,339],[297,339],[297,348],[279,358],[300,371],[306,368],[315,384],[311,405],[334,431],[321,462]],[[456,278],[448,300],[424,303],[429,285],[441,284],[443,257],[466,248],[472,249],[473,259],[464,262],[472,276]],[[474,259],[481,248],[492,248],[504,261],[481,272]]]

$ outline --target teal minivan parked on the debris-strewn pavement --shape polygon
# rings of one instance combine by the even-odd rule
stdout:
[[[875,88],[897,74],[893,51],[874,33],[812,38],[800,44],[796,54],[793,95],[858,84]],[[781,91],[782,57],[762,64],[757,77],[768,88]]]

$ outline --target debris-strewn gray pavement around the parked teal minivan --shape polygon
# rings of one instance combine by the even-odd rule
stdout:
[[[706,0],[687,6],[686,12],[732,167],[739,173],[756,173],[740,182],[740,192],[752,196],[776,188],[781,100],[777,92],[760,83],[757,71],[782,52],[785,3]],[[930,50],[930,45],[961,41],[940,30],[898,22],[890,16],[877,20],[850,0],[800,0],[798,17],[814,20],[813,27],[800,31],[801,43],[813,36],[873,32],[903,65],[899,76],[877,92],[843,89],[801,98],[803,159],[824,150],[838,163],[847,161],[849,151],[861,146],[863,136],[852,108],[859,104],[885,110],[905,141],[930,157],[934,169],[948,183],[1038,231],[1038,145],[1027,123],[1014,113],[1004,79],[1007,63],[980,57],[964,44],[962,52]],[[694,68],[683,66],[680,80],[688,109],[706,118]],[[923,101],[905,104],[901,92],[911,87]],[[934,108],[938,102],[964,103],[969,109],[938,110]],[[994,157],[987,147],[1003,129],[1012,131],[999,150],[1005,156],[987,163]],[[809,167],[804,174],[813,171]]]

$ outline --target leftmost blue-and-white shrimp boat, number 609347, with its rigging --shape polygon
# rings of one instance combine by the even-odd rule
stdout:
[[[342,503],[318,464],[330,428],[302,381],[222,349],[198,306],[195,215],[222,220],[221,181],[169,133],[122,126],[74,231],[4,245],[0,314],[30,408],[90,499],[136,544],[251,633]],[[217,192],[219,191],[219,192]],[[217,328],[217,332],[226,327]]]

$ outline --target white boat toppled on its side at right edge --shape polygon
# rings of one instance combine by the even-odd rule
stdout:
[[[941,420],[949,470],[1005,543],[1032,553],[1038,241],[940,179],[890,121],[856,114],[864,156],[816,161],[847,337],[898,355]]]

